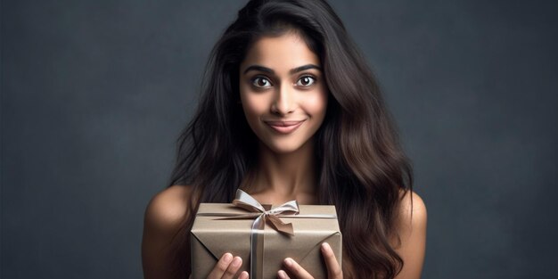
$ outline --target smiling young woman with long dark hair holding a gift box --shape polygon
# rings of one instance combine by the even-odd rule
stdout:
[[[426,209],[365,59],[324,0],[252,0],[213,49],[204,94],[178,144],[168,188],[144,220],[145,278],[190,274],[189,231],[200,202],[333,204],[342,269],[330,278],[419,278]],[[238,274],[226,253],[210,278]],[[278,278],[312,278],[291,258]]]

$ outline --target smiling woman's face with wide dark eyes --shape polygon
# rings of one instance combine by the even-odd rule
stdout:
[[[244,115],[259,140],[277,153],[294,152],[322,125],[327,88],[322,65],[293,32],[261,37],[240,66]]]

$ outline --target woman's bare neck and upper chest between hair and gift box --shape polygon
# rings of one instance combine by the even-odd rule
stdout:
[[[316,203],[316,160],[312,140],[290,153],[273,152],[261,142],[258,148],[258,165],[250,185],[250,193],[258,201]]]

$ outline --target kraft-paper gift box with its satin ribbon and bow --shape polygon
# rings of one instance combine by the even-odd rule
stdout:
[[[191,231],[192,278],[205,279],[226,252],[242,258],[250,278],[276,278],[293,258],[315,278],[326,278],[321,244],[341,267],[341,231],[334,206],[263,206],[239,190],[234,203],[201,203]]]

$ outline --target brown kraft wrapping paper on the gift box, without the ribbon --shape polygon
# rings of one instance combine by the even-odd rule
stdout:
[[[269,224],[264,229],[263,277],[276,278],[284,269],[283,259],[293,258],[315,278],[326,278],[320,245],[328,242],[341,267],[341,231],[335,207],[326,205],[300,205],[302,217],[281,217],[283,223],[292,223],[294,235],[281,234]],[[192,278],[205,279],[217,264],[218,258],[231,252],[242,258],[241,271],[250,273],[250,232],[254,218],[222,219],[203,214],[246,214],[247,211],[230,203],[201,203],[191,231]],[[329,215],[335,218],[304,217]]]

